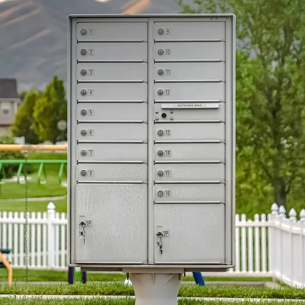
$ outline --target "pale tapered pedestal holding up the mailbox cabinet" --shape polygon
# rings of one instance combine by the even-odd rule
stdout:
[[[178,273],[131,273],[136,305],[177,305]]]

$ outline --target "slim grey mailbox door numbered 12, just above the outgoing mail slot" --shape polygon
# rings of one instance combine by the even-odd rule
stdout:
[[[217,83],[155,83],[156,102],[224,102],[226,85]]]

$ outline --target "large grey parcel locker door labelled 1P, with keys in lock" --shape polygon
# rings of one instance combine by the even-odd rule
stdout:
[[[147,185],[78,184],[77,263],[147,263]],[[85,228],[85,242],[79,225]]]

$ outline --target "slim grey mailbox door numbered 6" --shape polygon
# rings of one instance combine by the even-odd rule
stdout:
[[[147,142],[147,124],[80,123],[79,142]]]

